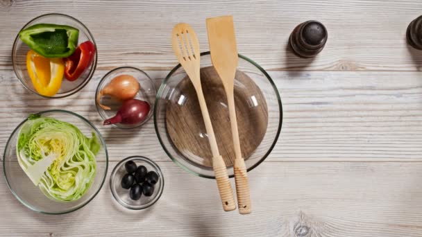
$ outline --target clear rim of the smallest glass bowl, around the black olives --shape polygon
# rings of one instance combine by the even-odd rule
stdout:
[[[131,207],[130,205],[124,203],[123,201],[121,201],[121,198],[119,198],[119,195],[117,195],[112,188],[113,185],[113,179],[115,178],[116,172],[117,172],[117,167],[120,167],[122,164],[124,164],[124,162],[128,161],[128,160],[132,160],[132,159],[142,159],[142,161],[149,163],[151,166],[153,166],[156,170],[158,170],[158,175],[160,175],[160,182],[162,182],[161,188],[160,188],[160,193],[157,194],[157,196],[155,196],[155,200],[153,200],[153,202],[148,202],[142,206],[139,207]],[[110,175],[110,191],[113,195],[113,198],[115,198],[115,200],[117,202],[119,202],[119,204],[121,204],[122,207],[126,207],[127,209],[130,210],[142,210],[142,209],[146,209],[148,207],[151,207],[153,204],[155,204],[155,202],[158,202],[158,200],[160,200],[162,192],[164,191],[164,176],[162,175],[161,172],[161,168],[160,166],[158,166],[158,164],[156,164],[152,159],[149,159],[148,157],[144,157],[142,155],[133,155],[130,157],[126,157],[124,159],[122,159],[121,161],[119,161],[119,163],[116,164],[115,168],[113,168],[112,173]]]

